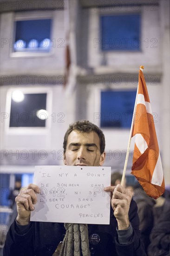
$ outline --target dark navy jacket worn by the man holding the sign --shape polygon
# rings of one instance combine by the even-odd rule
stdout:
[[[92,256],[146,256],[140,241],[137,205],[131,201],[129,219],[133,228],[131,242],[118,243],[117,220],[111,210],[110,225],[88,225],[89,237],[97,234],[99,243],[91,244]],[[54,250],[65,236],[63,223],[31,222],[24,235],[17,233],[16,222],[8,231],[3,256],[52,256]],[[91,239],[89,239],[91,240]]]

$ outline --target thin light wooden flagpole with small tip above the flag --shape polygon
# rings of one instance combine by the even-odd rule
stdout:
[[[144,69],[144,66],[140,66],[140,70],[143,71],[143,69]],[[138,94],[138,85],[137,85],[137,94]],[[136,94],[136,99],[135,99],[135,106],[134,106],[134,110],[133,110],[133,116],[136,113],[136,108],[137,108],[137,94]],[[133,116],[132,116],[132,121],[131,121],[131,131],[130,131],[130,135],[129,135],[128,147],[127,147],[127,152],[126,152],[126,158],[125,158],[125,162],[124,162],[124,171],[123,171],[123,175],[122,175],[121,186],[124,186],[124,177],[125,177],[127,162],[128,162],[128,158],[129,158],[129,152],[130,152],[130,146],[131,146],[131,137],[132,137],[133,126],[134,126],[134,118],[133,118]]]

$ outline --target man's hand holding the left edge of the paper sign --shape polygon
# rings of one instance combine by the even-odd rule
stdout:
[[[20,225],[27,225],[30,222],[31,211],[34,210],[34,204],[37,202],[37,195],[40,189],[37,185],[29,184],[27,188],[21,188],[20,194],[16,196],[18,216],[16,218]]]

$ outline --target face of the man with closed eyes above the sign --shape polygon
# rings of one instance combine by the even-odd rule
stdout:
[[[100,140],[95,132],[72,131],[68,136],[64,164],[81,166],[102,166],[105,153],[100,154]]]

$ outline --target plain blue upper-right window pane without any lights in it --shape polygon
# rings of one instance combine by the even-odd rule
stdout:
[[[140,14],[102,15],[102,51],[139,51]]]

